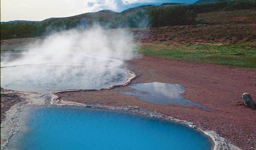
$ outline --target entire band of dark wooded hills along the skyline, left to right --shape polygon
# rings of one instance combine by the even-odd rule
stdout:
[[[1,22],[1,39],[44,36],[52,31],[75,27],[90,28],[93,24],[99,24],[105,29],[206,24],[209,18],[206,16],[202,20],[195,20],[198,14],[254,9],[255,7],[255,1],[219,2],[201,5],[163,3],[162,5],[133,7],[120,13],[112,10],[101,10],[71,17],[48,18],[43,21],[8,21]]]

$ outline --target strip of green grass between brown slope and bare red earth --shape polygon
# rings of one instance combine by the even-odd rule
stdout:
[[[172,46],[154,43],[141,45],[139,52],[170,60],[238,66],[256,71],[255,44]]]

